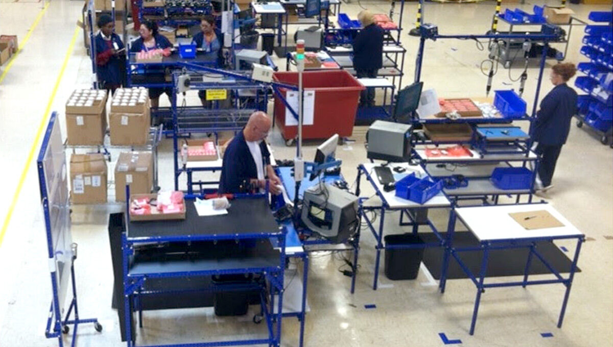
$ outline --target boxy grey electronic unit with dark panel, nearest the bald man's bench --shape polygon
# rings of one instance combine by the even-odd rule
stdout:
[[[333,185],[314,185],[305,190],[300,219],[330,242],[343,243],[356,233],[360,223],[357,196]]]

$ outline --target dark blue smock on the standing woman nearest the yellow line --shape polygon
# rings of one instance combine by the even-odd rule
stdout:
[[[96,37],[94,37],[94,42],[96,43],[96,65],[99,83],[103,86],[105,84],[119,86],[123,81],[123,76],[121,76],[121,59],[119,56],[114,56],[111,49],[121,50],[121,48],[124,48],[123,42],[121,42],[119,35],[114,32],[111,34],[110,40],[105,40],[102,37],[102,32],[98,32]]]

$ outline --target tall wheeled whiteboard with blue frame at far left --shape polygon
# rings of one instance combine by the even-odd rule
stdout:
[[[47,318],[45,337],[57,338],[58,346],[63,347],[63,334],[68,334],[70,325],[72,343],[77,343],[77,329],[80,324],[93,323],[97,332],[102,326],[96,318],[79,317],[77,300],[77,280],[75,279],[74,261],[77,259],[77,244],[72,243],[70,234],[70,198],[66,181],[66,154],[59,130],[58,113],[53,112],[45,137],[40,146],[37,159],[40,185],[40,201],[45,220],[47,235],[47,259],[51,274],[53,299]],[[70,278],[70,281],[69,281]],[[65,313],[64,299],[69,287],[72,287],[72,300]],[[74,319],[69,319],[74,313]]]

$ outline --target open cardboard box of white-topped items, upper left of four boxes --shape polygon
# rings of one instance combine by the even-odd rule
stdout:
[[[107,130],[107,91],[77,89],[66,102],[67,143],[96,146],[104,143]]]

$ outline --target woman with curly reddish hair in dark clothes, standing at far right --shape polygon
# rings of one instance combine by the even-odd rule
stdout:
[[[554,89],[541,101],[541,109],[536,113],[532,129],[536,154],[541,155],[536,185],[537,190],[546,192],[553,185],[555,163],[566,143],[571,127],[571,119],[577,113],[577,92],[566,85],[577,69],[574,64],[557,64],[552,67],[550,80]],[[540,182],[539,182],[540,181]]]

